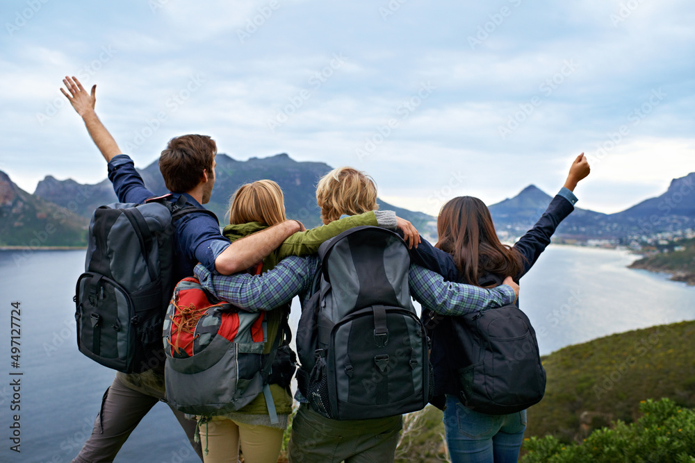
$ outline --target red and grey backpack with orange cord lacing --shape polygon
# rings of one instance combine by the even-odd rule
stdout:
[[[271,422],[277,423],[268,383],[288,333],[283,323],[264,355],[263,316],[220,301],[197,278],[181,280],[164,321],[167,403],[187,414],[213,416],[239,410],[263,392]]]

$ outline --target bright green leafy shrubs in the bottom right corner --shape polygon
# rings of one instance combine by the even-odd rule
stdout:
[[[562,444],[553,436],[532,437],[523,463],[695,462],[695,410],[669,398],[644,401],[637,422],[616,421],[596,430],[582,444]]]

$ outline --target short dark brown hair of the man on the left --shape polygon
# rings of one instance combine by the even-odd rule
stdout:
[[[215,140],[207,135],[181,135],[169,140],[159,156],[159,170],[167,190],[172,193],[193,190],[202,180],[205,169],[211,175],[215,154]]]

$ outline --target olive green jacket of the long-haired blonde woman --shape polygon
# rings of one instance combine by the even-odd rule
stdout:
[[[373,211],[365,212],[364,214],[354,215],[352,217],[344,217],[336,221],[332,221],[328,225],[312,228],[303,232],[297,232],[291,235],[277,248],[272,251],[268,257],[263,259],[263,269],[261,272],[266,272],[277,265],[280,260],[289,255],[310,255],[318,252],[319,246],[327,239],[338,236],[345,230],[350,228],[371,225],[377,226],[377,217]],[[222,235],[227,237],[230,242],[235,242],[253,233],[265,230],[267,225],[260,222],[248,222],[247,224],[228,225],[222,230]],[[270,309],[270,308],[269,308]],[[268,340],[263,353],[269,353],[272,346],[272,341],[277,335],[284,313],[281,310],[268,310],[265,312],[265,321],[267,323]],[[275,403],[275,411],[277,414],[290,414],[292,412],[292,396],[287,389],[279,385],[270,385],[270,393],[272,400]],[[265,405],[263,394],[259,394],[254,400],[238,410],[238,413],[247,414],[268,414],[268,406]]]

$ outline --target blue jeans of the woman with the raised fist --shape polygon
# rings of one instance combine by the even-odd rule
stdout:
[[[446,396],[444,410],[446,445],[452,463],[514,463],[526,429],[526,410],[507,415],[489,415],[461,405],[456,396]]]

